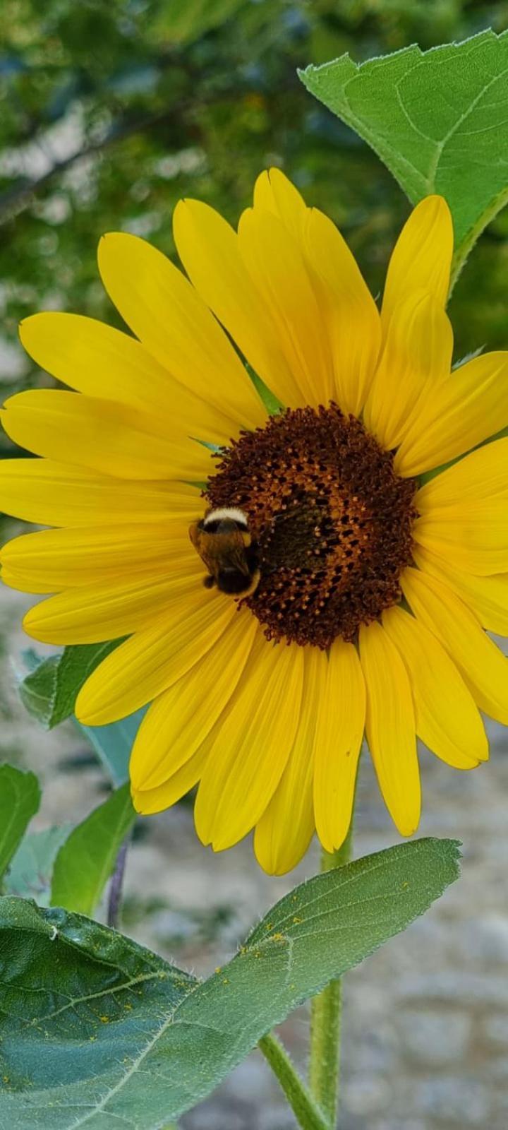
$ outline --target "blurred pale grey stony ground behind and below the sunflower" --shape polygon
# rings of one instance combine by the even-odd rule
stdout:
[[[19,657],[27,644],[19,620],[28,602],[0,590],[0,759],[38,773],[44,799],[35,826],[45,827],[82,818],[100,799],[102,774],[91,766],[62,771],[63,757],[85,750],[82,739],[70,723],[42,732],[17,702],[8,657]],[[464,873],[423,919],[345,979],[341,1130],[508,1127],[508,741],[501,728],[491,733],[491,763],[473,773],[422,754],[420,834],[463,840]],[[263,875],[249,841],[213,855],[195,838],[184,806],[147,823],[148,834],[128,862],[128,932],[200,973],[222,963],[253,920],[318,868],[315,845],[297,871],[279,879]],[[364,758],[354,852],[397,840]],[[218,936],[209,929],[207,940],[201,930],[195,940],[196,907],[222,919]],[[281,1031],[304,1064],[306,1011],[294,1014]],[[184,1130],[294,1125],[259,1052],[182,1120]]]

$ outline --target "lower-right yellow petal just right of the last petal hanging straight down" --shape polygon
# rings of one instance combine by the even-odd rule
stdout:
[[[410,677],[419,738],[455,768],[471,770],[487,760],[489,746],[478,707],[436,636],[401,608],[384,614],[383,627]]]

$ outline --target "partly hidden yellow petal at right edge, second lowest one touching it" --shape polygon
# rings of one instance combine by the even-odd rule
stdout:
[[[489,632],[508,635],[508,573],[498,576],[473,576],[457,570],[452,562],[437,557],[422,546],[413,550],[414,562],[423,573],[449,585],[467,605]]]

